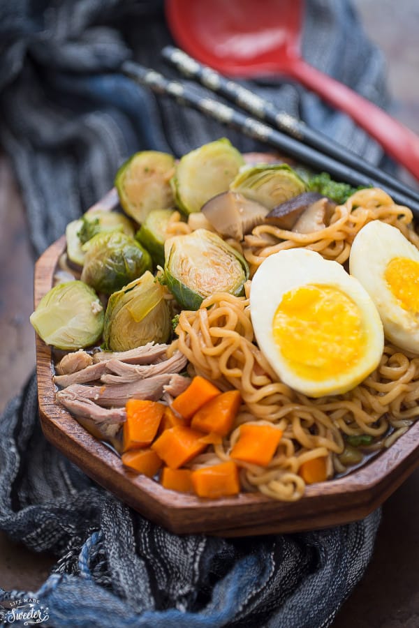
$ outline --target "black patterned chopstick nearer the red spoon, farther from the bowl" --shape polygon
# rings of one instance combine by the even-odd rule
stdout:
[[[395,179],[387,172],[379,170],[365,161],[365,159],[323,135],[323,133],[311,129],[302,120],[277,109],[272,103],[260,98],[260,96],[254,94],[249,89],[242,87],[242,85],[233,80],[226,79],[226,77],[212,70],[212,68],[203,66],[196,59],[189,57],[189,54],[186,54],[183,50],[173,46],[166,46],[161,51],[161,54],[166,61],[175,66],[184,76],[193,78],[204,87],[207,87],[207,89],[228,98],[235,105],[251,113],[253,117],[270,124],[287,135],[291,135],[295,140],[309,144],[309,146],[318,149],[321,153],[333,157],[341,163],[345,163],[353,170],[358,170],[358,172],[365,174],[367,177],[372,177],[383,185],[391,186],[393,190],[398,190],[419,202],[418,190],[413,190],[413,188],[406,186],[402,181]]]

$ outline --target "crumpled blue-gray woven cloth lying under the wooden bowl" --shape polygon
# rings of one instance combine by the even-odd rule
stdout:
[[[36,254],[112,186],[117,167],[134,151],[180,156],[222,136],[242,151],[266,149],[118,72],[130,56],[174,75],[159,59],[167,43],[160,1],[0,0],[0,143],[13,160]],[[302,50],[314,66],[381,107],[390,105],[383,58],[348,1],[307,0]],[[381,149],[316,95],[280,78],[248,84],[372,163],[382,162]],[[49,608],[44,625],[54,628],[323,628],[374,549],[379,511],[301,534],[170,534],[46,442],[35,377],[10,401],[0,437],[0,529],[34,551],[57,555],[50,577],[31,592]],[[0,589],[0,604],[28,595]]]

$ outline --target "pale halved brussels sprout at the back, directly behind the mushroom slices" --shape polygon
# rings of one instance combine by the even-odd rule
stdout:
[[[200,211],[207,200],[228,190],[242,165],[242,154],[225,137],[184,155],[172,179],[179,209]]]

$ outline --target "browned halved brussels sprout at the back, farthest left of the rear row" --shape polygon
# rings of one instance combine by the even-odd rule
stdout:
[[[128,216],[138,223],[152,209],[173,207],[170,179],[175,172],[175,158],[159,151],[135,153],[117,172],[119,201]]]

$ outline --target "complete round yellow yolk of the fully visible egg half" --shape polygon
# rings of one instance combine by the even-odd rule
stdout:
[[[307,380],[348,373],[365,354],[360,308],[335,287],[307,284],[286,292],[272,325],[288,368]]]

